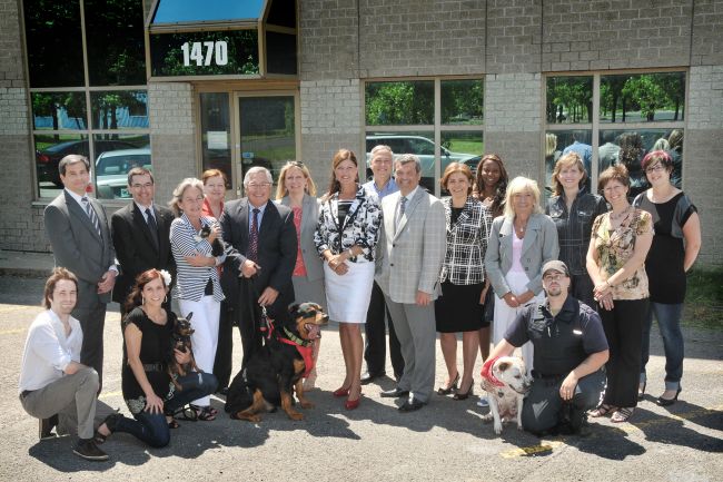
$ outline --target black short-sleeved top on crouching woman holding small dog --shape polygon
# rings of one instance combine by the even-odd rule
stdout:
[[[169,400],[175,392],[175,386],[168,375],[168,361],[172,356],[171,335],[176,325],[176,315],[168,312],[165,325],[153,323],[140,307],[133,308],[123,319],[123,332],[129,324],[136,325],[142,338],[140,342],[140,362],[147,366],[146,377],[153,388],[153,393],[161,400]],[[155,365],[151,368],[151,365]],[[140,413],[146,407],[146,393],[140,387],[133,371],[128,365],[128,352],[123,342],[123,366],[121,371],[121,386],[126,404],[132,414]]]

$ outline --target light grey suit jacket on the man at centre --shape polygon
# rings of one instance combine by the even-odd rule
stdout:
[[[439,295],[439,270],[447,249],[445,213],[442,201],[417,189],[395,226],[402,194],[382,199],[383,233],[378,243],[376,281],[396,303],[414,304],[417,292]]]

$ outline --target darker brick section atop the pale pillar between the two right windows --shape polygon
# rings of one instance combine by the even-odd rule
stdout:
[[[538,72],[542,2],[488,0],[486,3],[486,72]]]

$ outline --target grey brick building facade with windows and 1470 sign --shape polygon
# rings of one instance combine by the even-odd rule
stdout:
[[[593,186],[630,163],[644,189],[635,163],[670,150],[701,215],[699,264],[723,264],[723,0],[195,3],[0,0],[0,248],[49,250],[68,149],[91,157],[112,210],[138,164],[159,203],[208,167],[240,196],[250,166],[289,159],[324,190],[336,149],[364,165],[388,144],[439,194],[446,164],[485,153],[547,185],[577,141]]]

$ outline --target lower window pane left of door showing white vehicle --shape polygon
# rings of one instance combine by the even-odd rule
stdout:
[[[99,134],[93,136],[96,197],[99,199],[131,197],[128,193],[128,171],[133,167],[152,170],[149,142],[147,135]]]

